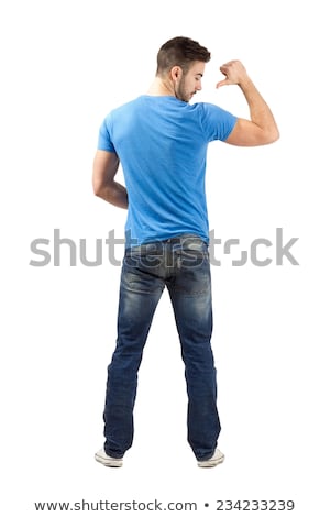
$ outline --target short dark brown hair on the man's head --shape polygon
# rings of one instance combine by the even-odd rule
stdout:
[[[211,58],[209,51],[189,37],[178,36],[168,40],[161,46],[157,54],[157,75],[179,66],[187,72],[193,62],[208,63]]]

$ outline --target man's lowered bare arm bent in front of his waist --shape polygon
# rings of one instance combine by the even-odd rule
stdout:
[[[123,185],[114,182],[119,167],[116,153],[97,151],[92,168],[92,188],[96,196],[111,202],[116,207],[128,208],[128,191]]]

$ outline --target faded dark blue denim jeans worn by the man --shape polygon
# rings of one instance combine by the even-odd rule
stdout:
[[[197,460],[213,454],[220,433],[212,333],[208,245],[183,234],[125,251],[118,311],[118,340],[108,367],[105,450],[122,458],[133,441],[138,371],[152,319],[168,289],[188,394],[188,442]]]

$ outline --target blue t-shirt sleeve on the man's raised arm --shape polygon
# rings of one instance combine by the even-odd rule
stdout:
[[[208,102],[202,102],[201,108],[201,125],[208,142],[227,140],[238,118],[219,106]]]

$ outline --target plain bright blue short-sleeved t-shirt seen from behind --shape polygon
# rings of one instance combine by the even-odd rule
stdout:
[[[218,106],[144,95],[105,119],[98,148],[117,153],[129,196],[127,245],[194,233],[209,240],[208,143],[226,140],[237,117]]]

